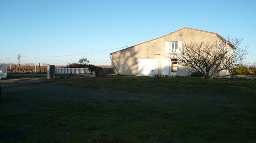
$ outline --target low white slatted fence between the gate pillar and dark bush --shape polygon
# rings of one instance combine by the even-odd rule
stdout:
[[[55,68],[55,74],[91,74],[88,68]]]

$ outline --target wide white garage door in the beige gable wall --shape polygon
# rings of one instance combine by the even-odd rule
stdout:
[[[138,76],[152,76],[152,74],[157,73],[158,59],[138,59]]]

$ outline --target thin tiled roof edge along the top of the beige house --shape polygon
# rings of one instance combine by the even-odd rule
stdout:
[[[164,36],[161,36],[161,37],[152,39],[152,40],[150,40],[150,41],[154,41],[154,40],[156,40],[156,39],[159,39],[159,38],[162,38],[162,37],[171,35],[171,34],[173,34],[173,33],[175,33],[175,32],[179,32],[179,31],[181,31],[181,30],[183,30],[183,29],[190,29],[190,30],[195,30],[195,31],[200,31],[200,32],[205,32],[205,33],[210,33],[210,34],[217,35],[217,36],[218,36],[220,39],[222,39],[224,42],[228,42],[231,47],[234,47],[229,41],[226,41],[226,40],[225,40],[222,36],[220,36],[218,33],[209,32],[209,31],[204,31],[204,30],[198,30],[198,29],[193,29],[193,28],[188,28],[188,27],[184,27],[184,28],[182,28],[182,29],[180,29],[180,30],[171,32],[171,33],[169,33],[169,34],[167,34],[167,35],[164,35]],[[116,53],[116,52],[119,52],[119,51],[123,51],[123,50],[129,49],[129,48],[133,48],[134,46],[138,46],[138,45],[141,45],[141,44],[150,42],[150,41],[146,41],[146,42],[143,42],[143,43],[140,43],[140,44],[137,44],[137,45],[133,45],[133,46],[131,46],[131,47],[128,47],[128,48],[125,48],[125,49],[122,49],[122,50],[118,50],[118,51],[115,51],[115,52],[112,52],[112,53]],[[112,53],[110,53],[110,55],[111,55]]]

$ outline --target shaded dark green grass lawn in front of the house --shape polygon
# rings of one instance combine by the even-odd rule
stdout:
[[[2,133],[28,132],[11,141],[256,142],[256,80],[108,76],[42,83],[69,92],[24,94],[36,104],[1,110]]]

